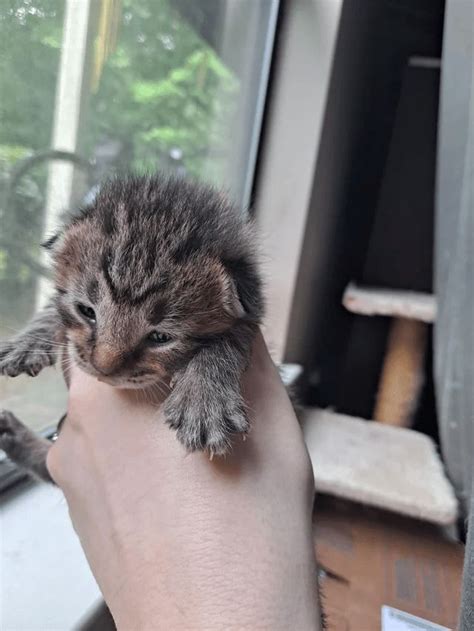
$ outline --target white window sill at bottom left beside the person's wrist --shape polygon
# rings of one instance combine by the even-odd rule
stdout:
[[[0,539],[0,628],[77,628],[101,602],[59,489],[26,482],[3,493]]]

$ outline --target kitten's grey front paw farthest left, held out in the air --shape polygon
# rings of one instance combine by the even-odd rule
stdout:
[[[46,344],[32,346],[29,340],[12,340],[0,345],[0,375],[36,377],[43,368],[55,362],[56,352]]]

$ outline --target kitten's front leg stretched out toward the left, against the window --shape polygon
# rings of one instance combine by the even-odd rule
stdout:
[[[10,340],[0,342],[0,375],[35,377],[56,363],[58,318],[53,304],[40,311],[26,328]]]

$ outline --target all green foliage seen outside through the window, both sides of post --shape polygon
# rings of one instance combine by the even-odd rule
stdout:
[[[119,28],[114,50],[97,68],[104,3],[115,7]],[[172,0],[94,0],[92,6],[97,32],[78,147],[80,156],[98,161],[90,186],[104,174],[98,157],[104,146],[116,154],[106,171],[171,165],[221,182],[237,78]],[[20,296],[25,315],[33,308],[47,163],[10,189],[21,161],[50,147],[64,11],[65,0],[0,2],[0,321],[11,319]]]

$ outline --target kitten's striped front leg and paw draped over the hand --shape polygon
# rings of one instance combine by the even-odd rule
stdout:
[[[188,451],[224,455],[233,434],[248,432],[240,379],[255,331],[252,325],[240,325],[201,349],[178,376],[165,403],[165,418]]]

